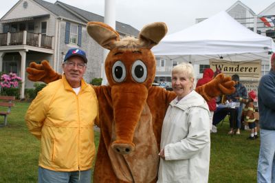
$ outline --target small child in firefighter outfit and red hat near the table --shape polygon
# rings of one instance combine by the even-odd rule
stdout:
[[[241,97],[236,97],[237,100],[239,100],[241,103],[245,103],[245,108],[243,108],[243,119],[245,123],[248,123],[248,126],[250,128],[250,136],[248,137],[249,140],[254,140],[255,138],[258,138],[256,124],[255,124],[255,107],[254,102],[257,101],[256,99],[256,93],[254,90],[248,93],[248,99],[244,99]]]

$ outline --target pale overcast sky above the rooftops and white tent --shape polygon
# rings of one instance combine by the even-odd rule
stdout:
[[[0,17],[19,0],[1,0]],[[46,0],[50,3],[55,0]],[[60,0],[71,6],[104,16],[104,0]],[[164,21],[168,34],[195,24],[197,18],[208,18],[230,8],[236,0],[115,0],[116,21],[127,23],[141,30],[146,23]],[[256,14],[263,11],[274,0],[241,0]]]

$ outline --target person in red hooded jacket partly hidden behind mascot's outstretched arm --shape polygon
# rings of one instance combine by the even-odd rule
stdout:
[[[204,69],[203,76],[202,76],[202,78],[200,78],[197,81],[196,87],[199,87],[201,85],[204,85],[204,84],[210,82],[210,80],[212,80],[213,77],[214,77],[214,72],[213,72],[212,69],[210,69],[210,68]],[[209,110],[210,110],[210,132],[217,132],[217,127],[212,127],[212,126],[214,126],[214,125],[212,125],[214,111],[217,108],[216,107],[216,98],[212,98],[210,101],[208,101],[207,105],[208,105]]]

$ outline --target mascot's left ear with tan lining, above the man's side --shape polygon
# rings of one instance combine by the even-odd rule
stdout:
[[[87,32],[98,44],[102,47],[112,50],[115,41],[120,41],[120,34],[113,30],[109,25],[98,22],[90,21],[87,23]]]

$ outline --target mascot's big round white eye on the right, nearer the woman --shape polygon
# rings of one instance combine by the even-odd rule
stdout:
[[[137,60],[133,63],[132,69],[131,69],[131,74],[133,79],[138,82],[142,83],[144,80],[147,78],[147,67],[146,65],[140,61]]]

